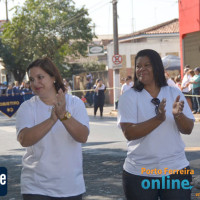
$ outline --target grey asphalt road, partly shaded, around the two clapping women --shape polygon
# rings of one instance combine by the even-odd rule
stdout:
[[[87,192],[84,200],[124,200],[121,172],[126,156],[126,140],[116,126],[115,117],[90,116],[90,136],[83,145],[84,177]],[[186,155],[195,176],[200,174],[200,123],[195,123],[193,133],[183,136]],[[20,171],[24,154],[16,141],[15,118],[0,114],[0,166],[8,170],[8,194],[0,200],[21,200]],[[199,190],[192,189],[192,199],[199,200]]]

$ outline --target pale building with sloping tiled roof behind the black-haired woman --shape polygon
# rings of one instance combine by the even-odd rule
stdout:
[[[115,94],[110,97],[115,102],[120,96],[120,80],[128,75],[133,77],[134,60],[138,51],[154,49],[161,57],[166,55],[180,56],[179,20],[173,19],[165,23],[119,37],[119,54],[122,65],[119,73],[115,72],[112,57],[114,55],[113,42],[107,46],[109,87],[115,88]],[[113,79],[115,79],[113,81]]]

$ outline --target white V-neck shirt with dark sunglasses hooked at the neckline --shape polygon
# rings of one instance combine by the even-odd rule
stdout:
[[[182,92],[174,87],[162,87],[158,99],[166,98],[166,120],[148,135],[127,141],[128,153],[124,163],[124,170],[135,175],[142,174],[141,169],[164,168],[179,170],[189,165],[184,152],[184,143],[172,114],[172,105],[176,97],[184,100],[183,113],[194,120],[194,116]],[[120,123],[141,123],[155,117],[155,105],[151,103],[152,96],[143,89],[137,92],[130,89],[119,99],[118,125]],[[164,174],[168,175],[168,174]],[[163,176],[163,174],[150,174],[149,176]]]

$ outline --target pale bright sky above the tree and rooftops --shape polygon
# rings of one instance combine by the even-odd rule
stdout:
[[[25,0],[8,0],[8,8],[23,5]],[[112,34],[112,0],[74,0],[77,7],[85,5],[95,24],[95,33]],[[178,0],[118,0],[118,33],[129,34],[178,18]],[[0,19],[5,19],[5,0],[0,2]],[[12,18],[12,11],[9,11]]]

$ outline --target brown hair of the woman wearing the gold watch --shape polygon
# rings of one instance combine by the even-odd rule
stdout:
[[[29,64],[27,67],[27,72],[33,67],[40,67],[42,70],[44,70],[49,76],[55,77],[55,89],[58,92],[58,90],[61,88],[63,92],[66,91],[66,88],[64,86],[64,83],[62,81],[62,77],[60,75],[60,72],[58,68],[55,66],[55,64],[51,61],[50,58],[44,57],[44,58],[39,58],[32,63]]]

